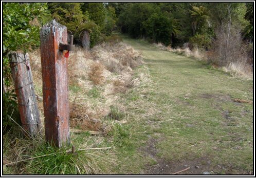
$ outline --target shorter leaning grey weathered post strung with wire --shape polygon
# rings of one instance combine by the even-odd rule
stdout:
[[[28,54],[12,53],[9,58],[22,127],[30,135],[35,136],[42,125],[34,93],[29,57]]]

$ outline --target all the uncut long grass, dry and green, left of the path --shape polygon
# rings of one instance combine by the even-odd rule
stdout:
[[[118,39],[121,38],[118,37]],[[40,99],[42,98],[40,50],[29,52],[29,56],[43,120],[43,101]],[[120,58],[123,59],[119,60]],[[70,128],[100,132],[100,135],[95,138],[90,135],[90,132],[79,134],[72,132],[71,145],[76,149],[108,147],[107,140],[119,143],[122,138],[128,137],[129,130],[122,125],[127,115],[117,100],[121,93],[125,93],[133,86],[138,86],[143,79],[133,76],[133,69],[141,64],[140,54],[131,46],[112,41],[95,46],[90,52],[77,47],[75,52],[70,52],[68,60]],[[114,65],[115,70],[108,69],[108,66],[111,66],[109,63]],[[114,84],[117,80],[121,82],[120,85]],[[71,145],[62,149],[53,148],[45,144],[44,137],[41,135],[31,141],[22,138],[22,135],[16,135],[11,130],[5,137],[4,157],[8,162],[36,157],[14,164],[15,167],[5,166],[5,173],[99,174],[107,173],[109,171],[107,166],[116,162],[113,151],[85,150],[76,151],[73,154],[70,152]],[[81,138],[88,140],[81,142]],[[107,140],[101,145],[101,140],[104,139]],[[19,140],[19,145],[15,140],[17,142]],[[96,144],[97,142],[99,143]],[[24,148],[27,149],[24,150]],[[20,169],[23,171],[20,172]]]

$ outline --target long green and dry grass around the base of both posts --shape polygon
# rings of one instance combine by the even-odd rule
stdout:
[[[78,150],[93,146],[86,142],[74,144],[78,151],[72,153],[71,146],[54,148],[43,136],[28,140],[20,131],[15,128],[4,135],[4,159],[24,161],[4,166],[4,174],[100,174],[116,164],[110,152]]]

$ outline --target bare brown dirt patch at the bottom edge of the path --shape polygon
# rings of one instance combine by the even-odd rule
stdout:
[[[167,161],[164,158],[159,158],[157,156],[157,148],[156,144],[159,142],[158,139],[149,138],[147,145],[140,149],[143,152],[145,157],[150,157],[153,159],[156,164],[145,165],[145,169],[141,172],[141,174],[167,174],[171,175],[181,170],[185,171],[179,172],[177,174],[223,174],[225,171],[227,174],[234,174],[235,172],[243,174],[249,174],[248,172],[244,172],[243,170],[237,170],[230,165],[230,167],[226,167],[224,165],[215,165],[212,164],[212,161],[208,157],[200,157],[188,160],[180,160],[180,161]]]

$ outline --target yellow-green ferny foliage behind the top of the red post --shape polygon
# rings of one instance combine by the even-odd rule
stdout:
[[[90,48],[109,36],[115,28],[116,14],[112,7],[103,3],[49,3],[52,18],[74,34],[75,42],[81,43],[84,30],[90,34]]]

